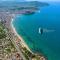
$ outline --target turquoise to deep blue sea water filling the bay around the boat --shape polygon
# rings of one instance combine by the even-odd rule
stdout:
[[[41,7],[40,13],[19,15],[13,21],[17,33],[29,48],[44,54],[48,60],[60,60],[60,4]],[[39,34],[39,28],[54,30]]]

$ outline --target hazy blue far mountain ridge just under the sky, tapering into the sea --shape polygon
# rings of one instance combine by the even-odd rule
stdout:
[[[4,1],[4,2],[0,2],[0,7],[2,6],[20,6],[20,7],[30,7],[30,6],[34,6],[34,7],[42,7],[42,6],[47,6],[49,5],[48,3],[45,2],[38,2],[38,1]]]

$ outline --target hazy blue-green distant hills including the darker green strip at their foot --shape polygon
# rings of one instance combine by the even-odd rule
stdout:
[[[20,10],[20,9],[36,9],[39,10],[41,7],[48,6],[48,3],[30,1],[30,2],[16,2],[16,1],[4,1],[0,2],[0,11],[7,10]]]

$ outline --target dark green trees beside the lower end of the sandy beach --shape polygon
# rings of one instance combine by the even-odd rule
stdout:
[[[26,47],[23,47],[23,54],[27,60],[29,60],[29,58],[31,58],[32,60],[34,60],[34,59],[40,60],[40,57],[41,57],[39,55],[32,54],[29,50],[27,50]]]

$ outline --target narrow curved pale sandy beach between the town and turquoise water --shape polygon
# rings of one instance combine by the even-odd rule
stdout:
[[[17,33],[15,27],[14,27],[13,24],[12,24],[13,20],[14,20],[14,18],[12,18],[12,20],[11,20],[11,28],[12,28],[13,33],[20,39],[20,44],[21,44],[22,46],[26,47],[27,50],[29,50],[32,54],[34,54],[34,53],[30,50],[30,48],[28,47],[28,45],[26,44],[26,42],[24,41],[24,39]]]

